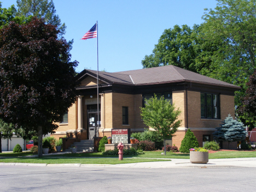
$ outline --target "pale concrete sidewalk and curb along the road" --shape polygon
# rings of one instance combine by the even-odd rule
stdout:
[[[43,154],[43,156],[66,154],[70,152]],[[32,155],[29,157],[34,157]],[[28,157],[28,156],[26,156]],[[60,158],[60,157],[59,157]],[[171,161],[137,162],[132,164],[22,164],[1,163],[0,165],[24,165],[24,166],[75,166],[75,167],[131,167],[131,168],[234,168],[256,167],[256,158],[231,158],[209,159],[207,164],[191,164],[189,159],[171,159]]]

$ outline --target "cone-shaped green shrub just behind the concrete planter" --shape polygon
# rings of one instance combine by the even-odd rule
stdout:
[[[181,147],[179,148],[179,152],[181,153],[189,153],[189,149],[199,147],[198,141],[194,135],[194,133],[188,129],[185,134]]]

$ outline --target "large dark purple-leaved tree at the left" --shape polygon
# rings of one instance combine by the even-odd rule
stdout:
[[[0,118],[42,135],[53,133],[75,102],[75,70],[68,44],[56,26],[33,18],[26,25],[10,22],[0,30]]]

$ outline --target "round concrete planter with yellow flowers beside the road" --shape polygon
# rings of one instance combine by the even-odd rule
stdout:
[[[190,162],[193,164],[207,164],[209,160],[208,150],[199,148],[191,148],[190,151]]]

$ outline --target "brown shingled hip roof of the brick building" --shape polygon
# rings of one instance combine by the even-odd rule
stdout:
[[[97,71],[85,70],[96,77]],[[81,72],[82,73],[82,72]],[[137,69],[123,72],[98,72],[99,78],[108,83],[124,83],[134,85],[159,84],[172,82],[195,82],[240,89],[239,86],[206,77],[173,65]]]

